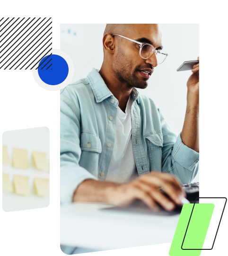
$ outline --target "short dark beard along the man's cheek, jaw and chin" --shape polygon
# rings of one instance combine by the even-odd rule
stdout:
[[[120,82],[127,83],[129,88],[145,89],[148,86],[148,79],[137,77],[136,74],[139,70],[140,66],[134,67],[133,61],[119,47],[113,64],[116,79]]]

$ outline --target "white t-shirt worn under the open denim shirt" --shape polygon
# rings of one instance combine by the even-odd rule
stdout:
[[[139,177],[132,149],[132,97],[127,102],[125,113],[118,106],[115,120],[115,142],[112,160],[106,181],[129,182]]]

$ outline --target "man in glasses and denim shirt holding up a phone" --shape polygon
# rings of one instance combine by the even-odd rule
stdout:
[[[140,199],[167,211],[182,204],[180,184],[199,169],[198,67],[187,81],[176,138],[153,100],[136,89],[146,88],[165,60],[162,48],[157,24],[107,24],[101,69],[61,89],[61,203]]]

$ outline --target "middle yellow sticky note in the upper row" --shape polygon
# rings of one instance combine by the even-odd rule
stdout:
[[[13,148],[13,167],[28,168],[27,150]]]

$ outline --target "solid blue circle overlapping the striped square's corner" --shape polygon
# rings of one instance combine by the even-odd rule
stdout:
[[[69,67],[67,62],[59,55],[45,56],[39,63],[38,74],[40,79],[46,84],[61,84],[67,78],[68,73]]]

